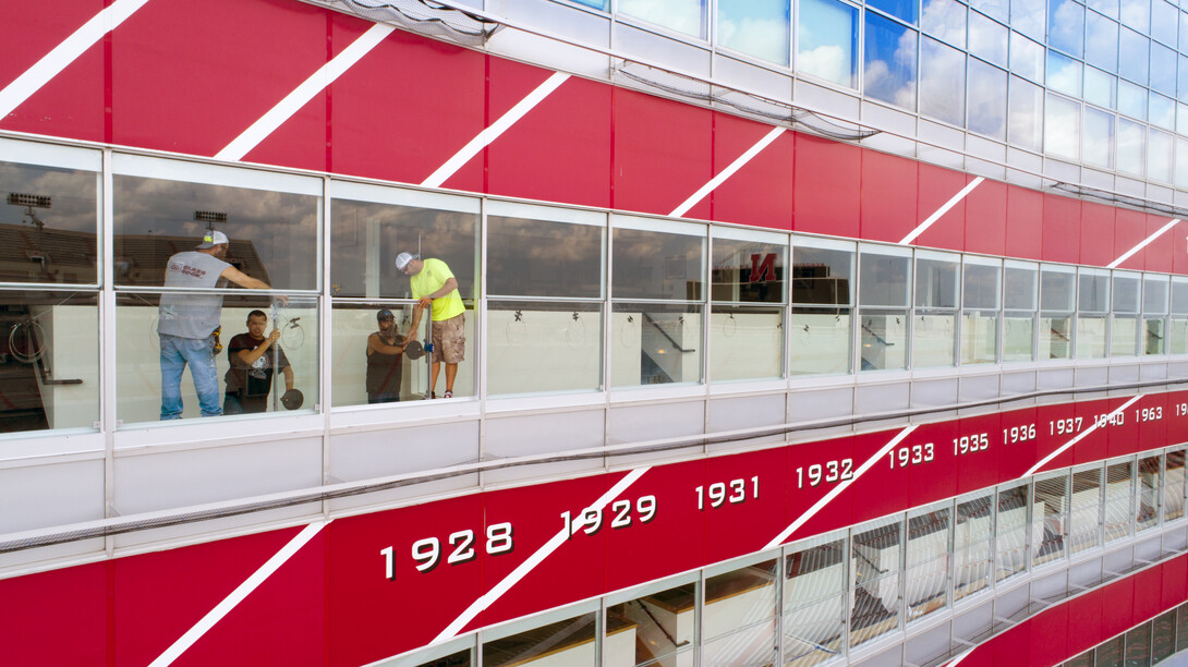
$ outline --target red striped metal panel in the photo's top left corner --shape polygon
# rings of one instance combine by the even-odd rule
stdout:
[[[0,89],[97,14],[102,0],[6,2],[0,25]],[[0,130],[102,141],[105,43],[83,52],[40,90],[0,118]]]

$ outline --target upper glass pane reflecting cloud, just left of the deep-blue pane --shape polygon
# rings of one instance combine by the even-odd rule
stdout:
[[[858,10],[835,0],[801,0],[796,70],[858,87]]]

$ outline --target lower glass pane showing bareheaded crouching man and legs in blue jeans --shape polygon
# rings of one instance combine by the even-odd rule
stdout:
[[[213,308],[217,335],[191,339],[158,333],[160,314],[176,310],[183,300],[204,301]],[[228,290],[165,296],[121,292],[115,312],[120,332],[116,415],[133,423],[225,413],[312,411],[318,402],[318,321],[317,298],[308,295],[291,295],[287,303],[280,303]],[[282,401],[290,388],[303,399]]]

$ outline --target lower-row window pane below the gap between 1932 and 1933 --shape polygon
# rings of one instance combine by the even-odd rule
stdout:
[[[903,521],[884,518],[855,527],[852,543],[849,646],[858,646],[899,627]]]

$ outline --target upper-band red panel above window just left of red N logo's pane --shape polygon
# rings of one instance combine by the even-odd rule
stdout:
[[[612,99],[611,206],[668,215],[713,177],[713,114],[621,88]]]

